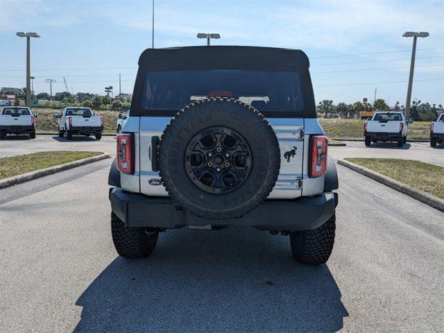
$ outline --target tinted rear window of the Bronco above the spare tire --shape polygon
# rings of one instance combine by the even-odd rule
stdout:
[[[232,69],[152,71],[146,75],[141,104],[144,110],[178,110],[212,96],[239,99],[266,112],[304,108],[298,73]]]

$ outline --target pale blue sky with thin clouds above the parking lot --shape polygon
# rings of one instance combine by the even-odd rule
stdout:
[[[137,59],[151,47],[151,1],[0,0],[0,85],[25,85],[25,40],[31,41],[35,92],[133,92]],[[443,1],[164,1],[155,0],[155,47],[204,44],[302,49],[311,61],[316,102],[367,97],[405,103],[411,38],[418,40],[412,98],[444,104]],[[118,91],[117,91],[118,92]]]

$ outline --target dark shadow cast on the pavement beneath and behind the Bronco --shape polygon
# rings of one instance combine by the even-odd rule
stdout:
[[[298,264],[288,237],[236,228],[160,234],[151,257],[117,257],[76,305],[75,332],[330,332],[348,316],[327,265]]]

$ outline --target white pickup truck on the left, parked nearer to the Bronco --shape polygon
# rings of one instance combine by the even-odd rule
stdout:
[[[90,108],[67,107],[63,109],[62,114],[54,112],[54,117],[59,118],[58,136],[64,135],[68,140],[73,135],[94,135],[100,140],[103,132],[104,119],[102,116],[96,116]]]

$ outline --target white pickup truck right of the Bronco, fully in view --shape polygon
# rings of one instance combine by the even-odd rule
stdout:
[[[402,112],[375,112],[373,117],[364,123],[366,146],[372,142],[398,142],[398,147],[407,142],[408,124],[413,119],[406,120]]]

